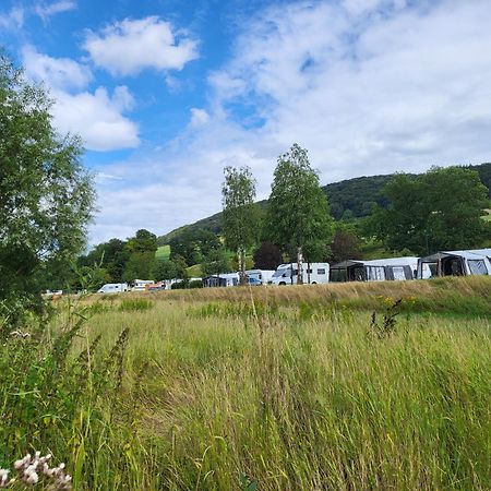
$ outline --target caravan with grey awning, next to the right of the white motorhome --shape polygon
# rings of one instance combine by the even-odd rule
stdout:
[[[386,258],[372,261],[348,260],[331,266],[330,280],[384,282],[414,279],[418,258]]]

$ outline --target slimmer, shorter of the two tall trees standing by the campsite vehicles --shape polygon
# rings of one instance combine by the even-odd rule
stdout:
[[[224,169],[221,185],[223,228],[227,247],[237,251],[240,284],[246,285],[246,250],[259,236],[255,197],[255,180],[249,167]]]

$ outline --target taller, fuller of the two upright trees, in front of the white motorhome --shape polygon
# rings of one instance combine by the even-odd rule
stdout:
[[[298,283],[302,283],[304,251],[327,253],[333,219],[318,172],[307,149],[294,144],[278,157],[267,207],[271,240],[297,255]]]

